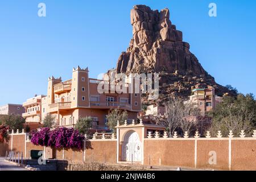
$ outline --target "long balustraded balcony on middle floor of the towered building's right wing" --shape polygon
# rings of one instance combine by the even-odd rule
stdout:
[[[131,105],[126,102],[90,102],[90,107],[98,109],[131,109]]]

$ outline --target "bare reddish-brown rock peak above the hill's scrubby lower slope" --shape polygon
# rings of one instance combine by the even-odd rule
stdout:
[[[117,73],[147,71],[205,75],[199,61],[183,42],[182,32],[170,21],[168,9],[153,11],[144,5],[131,10],[133,39],[119,57]]]

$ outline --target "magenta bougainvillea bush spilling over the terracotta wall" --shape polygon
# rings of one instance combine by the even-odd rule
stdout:
[[[50,130],[48,127],[31,134],[31,142],[37,146],[56,147],[56,148],[82,148],[84,136],[73,128],[67,129],[60,127]]]

